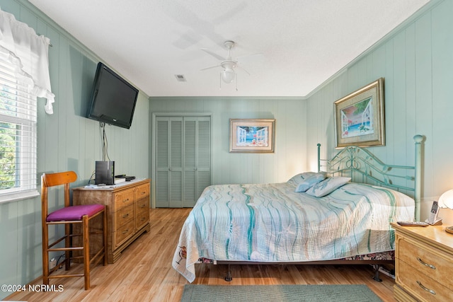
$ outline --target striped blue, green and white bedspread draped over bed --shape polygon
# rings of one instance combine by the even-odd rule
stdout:
[[[326,197],[292,182],[212,185],[180,233],[173,268],[192,282],[210,260],[304,262],[394,250],[391,221],[413,221],[414,201],[383,187],[348,183]]]

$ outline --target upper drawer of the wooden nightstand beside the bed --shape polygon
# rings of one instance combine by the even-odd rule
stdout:
[[[452,257],[429,245],[422,245],[411,238],[399,238],[396,257],[417,269],[421,274],[431,277],[453,288]],[[411,251],[411,252],[408,252]]]

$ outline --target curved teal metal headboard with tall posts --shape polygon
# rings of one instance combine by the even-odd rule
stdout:
[[[422,135],[415,135],[415,164],[387,165],[367,149],[349,146],[332,159],[321,159],[321,144],[318,144],[318,171],[332,176],[343,175],[353,182],[389,187],[413,196],[415,221],[420,221],[421,194],[421,149]]]

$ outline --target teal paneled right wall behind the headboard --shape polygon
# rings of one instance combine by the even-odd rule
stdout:
[[[432,200],[453,187],[453,1],[431,1],[357,57],[308,98],[307,146],[335,152],[333,102],[385,78],[386,146],[372,152],[386,163],[413,165],[415,134],[425,139],[421,219]],[[316,153],[309,149],[309,166]],[[452,218],[445,210],[443,213]],[[453,213],[452,213],[453,214]],[[453,219],[451,219],[453,223]]]

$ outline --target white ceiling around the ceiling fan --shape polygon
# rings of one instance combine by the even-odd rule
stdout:
[[[429,0],[29,1],[149,96],[303,97]],[[251,74],[237,91],[200,70],[224,40]]]

